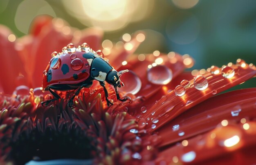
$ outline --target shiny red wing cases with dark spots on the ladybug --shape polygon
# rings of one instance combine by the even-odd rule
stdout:
[[[81,51],[52,57],[44,71],[43,89],[56,84],[78,84],[85,81],[90,76],[92,59],[93,56]]]

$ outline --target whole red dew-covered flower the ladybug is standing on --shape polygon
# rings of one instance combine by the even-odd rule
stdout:
[[[144,38],[137,32],[106,56],[116,70],[130,70],[121,77],[125,87],[120,88],[120,95],[130,100],[118,101],[107,85],[114,105],[106,106],[103,88],[94,81],[81,90],[73,108],[67,106],[71,91],[58,92],[61,100],[42,107],[40,102],[52,96],[36,87],[41,86],[52,52],[70,42],[87,42],[97,51],[102,31],[75,31],[63,20],[42,16],[34,20],[30,35],[10,42],[11,32],[0,28],[0,90],[5,93],[0,95],[1,161],[23,164],[35,156],[103,164],[255,161],[256,89],[216,95],[254,77],[254,65],[238,59],[194,77],[184,72],[193,66],[187,55],[133,55]],[[16,95],[6,95],[13,90]]]

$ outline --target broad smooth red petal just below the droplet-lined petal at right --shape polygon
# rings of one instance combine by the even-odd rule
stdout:
[[[160,128],[158,132],[162,137],[162,143],[159,147],[212,130],[222,120],[239,122],[242,118],[255,118],[255,103],[256,88],[236,90],[212,97]],[[180,136],[181,132],[184,132],[184,135]]]

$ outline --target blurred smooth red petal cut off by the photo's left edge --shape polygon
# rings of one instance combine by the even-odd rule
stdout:
[[[6,26],[0,25],[0,82],[4,92],[11,94],[16,87],[16,79],[19,74],[25,74],[22,61],[15,50],[15,41],[8,40],[9,35],[13,34]]]

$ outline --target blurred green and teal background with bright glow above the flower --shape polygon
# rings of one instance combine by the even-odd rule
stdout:
[[[256,64],[255,0],[1,0],[0,24],[21,37],[36,15],[63,18],[70,26],[100,26],[104,40],[146,32],[136,53],[189,54],[193,69],[236,59]],[[232,88],[256,87],[256,79]]]

